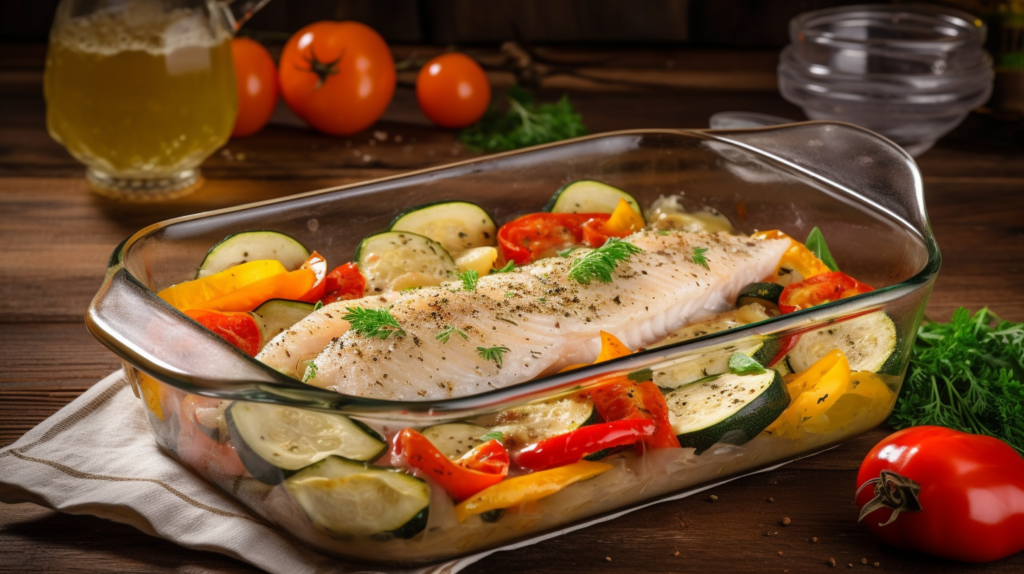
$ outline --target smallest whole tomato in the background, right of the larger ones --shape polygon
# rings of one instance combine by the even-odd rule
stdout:
[[[458,52],[428,61],[416,78],[420,109],[442,128],[475,123],[490,103],[490,83],[476,60]]]

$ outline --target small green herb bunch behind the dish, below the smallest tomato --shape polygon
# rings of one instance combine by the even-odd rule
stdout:
[[[479,122],[459,133],[459,141],[483,151],[507,151],[587,134],[566,96],[538,104],[531,93],[512,86],[508,103],[507,112],[487,109]]]

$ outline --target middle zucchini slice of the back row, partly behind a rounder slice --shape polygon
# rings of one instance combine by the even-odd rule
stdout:
[[[454,256],[472,248],[493,247],[498,226],[476,204],[439,202],[399,215],[391,223],[390,230],[430,237]]]

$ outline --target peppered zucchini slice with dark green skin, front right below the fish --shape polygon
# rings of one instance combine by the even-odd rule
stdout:
[[[687,385],[669,393],[665,401],[679,444],[700,454],[718,443],[754,439],[790,406],[790,392],[782,377],[768,370]]]

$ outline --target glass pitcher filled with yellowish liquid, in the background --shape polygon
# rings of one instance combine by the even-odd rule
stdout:
[[[96,192],[183,195],[230,136],[230,39],[268,0],[62,0],[46,56],[46,126]]]

